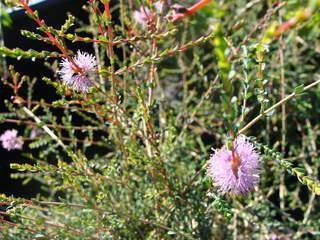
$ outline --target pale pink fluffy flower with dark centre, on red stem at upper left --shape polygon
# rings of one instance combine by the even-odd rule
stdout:
[[[86,93],[92,85],[89,74],[97,67],[96,58],[89,53],[78,51],[72,61],[67,58],[62,59],[60,77],[74,90]]]

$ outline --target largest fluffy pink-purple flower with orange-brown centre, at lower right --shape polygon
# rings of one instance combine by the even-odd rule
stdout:
[[[223,193],[246,194],[259,182],[259,154],[244,136],[216,150],[208,162],[208,174]]]

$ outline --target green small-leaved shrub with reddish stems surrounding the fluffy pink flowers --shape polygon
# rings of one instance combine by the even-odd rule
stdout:
[[[16,124],[28,159],[12,177],[41,183],[31,199],[1,195],[3,239],[319,238],[319,1],[91,0],[87,21],[66,14],[61,27],[28,1],[5,4],[49,48],[1,55],[50,71],[2,65],[1,134]],[[58,74],[79,49],[98,65],[88,93]],[[239,134],[261,181],[221,194],[206,162]]]

